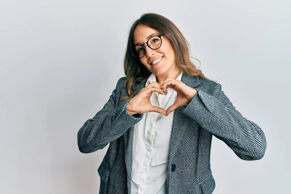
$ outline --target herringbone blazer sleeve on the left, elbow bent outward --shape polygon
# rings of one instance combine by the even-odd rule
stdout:
[[[131,98],[119,103],[120,80],[117,81],[104,107],[79,129],[77,139],[82,153],[91,153],[104,148],[143,118],[143,114],[130,115],[128,113],[127,105]]]

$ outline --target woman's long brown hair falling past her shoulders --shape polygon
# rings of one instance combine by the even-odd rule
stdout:
[[[190,56],[190,45],[177,26],[171,20],[159,14],[143,14],[132,24],[129,30],[127,49],[124,56],[124,72],[127,78],[125,85],[129,96],[120,99],[119,103],[134,97],[136,95],[136,90],[131,88],[131,86],[135,83],[147,80],[148,76],[151,74],[151,72],[146,69],[145,65],[143,65],[139,59],[133,57],[130,53],[131,49],[134,47],[133,32],[137,25],[153,28],[159,32],[162,32],[164,36],[169,39],[174,49],[176,65],[181,71],[183,71],[184,74],[208,79],[191,61],[191,58],[194,57]]]

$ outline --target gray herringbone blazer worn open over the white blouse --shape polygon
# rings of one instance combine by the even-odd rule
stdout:
[[[99,194],[130,194],[133,127],[143,114],[127,112],[126,77],[120,78],[104,107],[78,131],[82,153],[95,152],[110,143],[101,162]],[[211,194],[215,181],[210,168],[212,135],[224,141],[242,160],[261,159],[266,138],[260,127],[244,118],[221,85],[197,76],[181,81],[197,90],[186,107],[174,111],[167,168],[167,194]],[[146,81],[134,84],[140,92]]]

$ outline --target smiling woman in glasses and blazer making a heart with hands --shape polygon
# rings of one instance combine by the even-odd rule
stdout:
[[[259,160],[266,139],[191,62],[169,19],[144,14],[129,32],[126,77],[78,131],[82,153],[110,143],[98,168],[100,194],[211,194],[212,135],[242,160]]]

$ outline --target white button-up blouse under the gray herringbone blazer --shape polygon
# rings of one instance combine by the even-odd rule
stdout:
[[[181,81],[182,72],[176,80]],[[146,86],[156,81],[151,74]],[[153,106],[167,110],[177,98],[177,92],[168,88],[168,94],[153,92]],[[144,113],[143,119],[134,126],[132,147],[131,194],[166,194],[167,165],[174,112]]]

